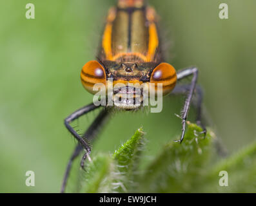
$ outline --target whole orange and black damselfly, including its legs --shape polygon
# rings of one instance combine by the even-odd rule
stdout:
[[[91,148],[88,140],[94,139],[95,131],[101,127],[106,117],[110,115],[112,108],[137,110],[143,107],[145,98],[144,93],[140,91],[144,89],[144,86],[140,87],[141,85],[161,83],[163,95],[168,95],[171,91],[176,94],[186,94],[186,100],[180,115],[182,123],[181,138],[176,141],[180,143],[184,138],[186,118],[192,104],[193,93],[197,91],[198,98],[195,101],[196,122],[202,127],[202,133],[205,135],[206,129],[201,124],[202,92],[196,86],[197,75],[198,70],[195,67],[176,72],[172,65],[164,62],[157,28],[157,15],[152,7],[146,5],[143,0],[117,1],[117,6],[110,8],[106,18],[97,61],[87,62],[83,66],[81,82],[84,88],[93,94],[96,92],[93,89],[95,84],[101,83],[103,86],[108,86],[111,82],[113,86],[117,84],[123,84],[123,86],[113,91],[113,104],[110,104],[109,101],[107,101],[106,106],[92,103],[78,109],[64,120],[66,128],[77,139],[78,144],[68,162],[61,192],[64,192],[66,187],[73,160],[83,149],[85,153],[81,160],[81,167],[84,167],[86,158],[90,160]],[[192,76],[190,84],[176,86],[177,80],[188,76]],[[158,86],[154,86],[153,89],[157,90]],[[103,109],[94,122],[88,127],[83,136],[79,135],[70,123],[100,107],[103,107]]]

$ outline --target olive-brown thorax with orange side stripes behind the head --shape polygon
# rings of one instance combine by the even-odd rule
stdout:
[[[159,62],[159,35],[153,8],[143,1],[119,1],[103,33],[101,60]]]

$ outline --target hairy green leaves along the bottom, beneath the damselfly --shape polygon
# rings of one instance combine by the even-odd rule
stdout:
[[[164,145],[140,171],[145,141],[142,129],[138,129],[112,155],[96,154],[86,163],[80,191],[255,192],[256,143],[220,160],[214,133],[208,129],[204,138],[201,131],[188,122],[182,144]]]

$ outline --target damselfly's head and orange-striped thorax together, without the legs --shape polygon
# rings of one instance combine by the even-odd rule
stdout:
[[[155,90],[162,84],[163,95],[170,93],[177,75],[162,62],[159,42],[155,10],[143,1],[119,1],[108,12],[97,61],[86,63],[81,71],[84,88],[95,94],[95,84],[108,86],[111,79],[113,87],[121,87],[113,93],[113,106],[121,109],[141,107],[143,88],[152,88],[147,83],[154,84]],[[134,96],[129,95],[131,91]],[[136,96],[138,91],[141,97]]]

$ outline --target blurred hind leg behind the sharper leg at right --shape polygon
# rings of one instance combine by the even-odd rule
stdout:
[[[186,95],[188,91],[190,90],[190,84],[183,84],[183,85],[177,85],[175,89],[172,91],[172,95]],[[192,98],[192,104],[195,107],[196,110],[196,118],[195,122],[198,126],[201,126],[202,131],[200,134],[204,134],[204,137],[206,136],[206,127],[204,124],[202,124],[202,98],[203,98],[203,91],[201,86],[196,85],[195,86],[195,94],[197,94],[197,98],[194,100]]]

